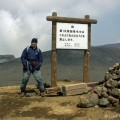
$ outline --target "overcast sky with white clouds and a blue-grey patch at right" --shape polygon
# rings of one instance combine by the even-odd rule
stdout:
[[[0,54],[21,55],[33,37],[42,51],[51,49],[51,22],[46,16],[90,15],[92,45],[120,42],[120,0],[0,0]]]

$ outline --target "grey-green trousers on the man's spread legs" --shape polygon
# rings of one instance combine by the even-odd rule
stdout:
[[[35,70],[33,73],[33,76],[35,77],[37,83],[38,83],[38,88],[41,92],[44,91],[44,83],[43,83],[43,80],[41,78],[41,72],[40,70]],[[23,72],[23,80],[22,80],[22,83],[21,83],[21,92],[25,92],[26,91],[26,86],[27,86],[27,83],[29,81],[29,78],[30,78],[30,75],[31,75],[31,72],[30,71],[25,71]]]

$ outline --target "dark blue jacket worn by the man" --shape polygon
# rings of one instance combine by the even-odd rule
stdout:
[[[43,63],[42,52],[38,48],[33,49],[32,46],[30,46],[29,48],[25,48],[21,55],[21,61],[24,70],[39,70]],[[32,65],[32,62],[35,62],[35,66]]]

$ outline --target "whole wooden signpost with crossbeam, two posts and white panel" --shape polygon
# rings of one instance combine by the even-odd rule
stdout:
[[[56,52],[56,49],[82,49],[84,50],[83,82],[86,82],[86,83],[89,82],[91,24],[96,24],[97,20],[90,19],[89,15],[85,15],[85,18],[83,19],[59,17],[57,16],[56,12],[53,12],[52,16],[47,16],[46,19],[48,21],[52,21],[52,65],[51,65],[52,87],[57,87],[57,52]],[[73,28],[73,30],[60,29],[61,34],[59,34],[59,36],[61,36],[61,38],[59,38],[59,36],[57,35],[57,25],[59,25],[58,23],[67,23],[67,24],[63,24],[63,27],[71,26],[71,29]],[[74,28],[74,27],[78,28],[77,26],[81,26],[80,27],[81,30]],[[64,34],[62,34],[62,32]],[[74,34],[71,34],[70,32]],[[69,39],[69,37],[71,39]],[[68,43],[65,43],[66,41]],[[86,45],[87,47],[85,47]]]

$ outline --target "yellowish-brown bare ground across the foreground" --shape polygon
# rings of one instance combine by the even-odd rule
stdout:
[[[78,108],[79,95],[40,97],[31,92],[20,97],[18,93],[17,86],[0,87],[1,120],[120,120],[119,107]]]

